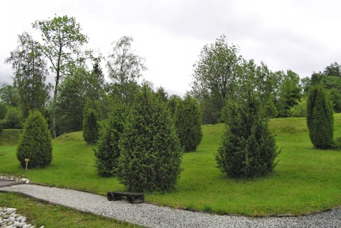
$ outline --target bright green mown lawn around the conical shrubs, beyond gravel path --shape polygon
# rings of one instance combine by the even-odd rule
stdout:
[[[341,114],[334,116],[335,137],[341,137]],[[147,193],[146,200],[171,207],[189,207],[215,213],[261,216],[300,214],[341,205],[341,151],[317,150],[309,140],[305,118],[269,122],[282,153],[274,173],[251,180],[232,180],[216,168],[214,154],[220,145],[223,124],[204,125],[204,137],[195,153],[185,153],[184,171],[171,193]],[[4,131],[2,137],[8,137]],[[124,191],[116,178],[100,178],[94,167],[95,146],[82,140],[81,132],[53,142],[52,164],[25,171],[19,167],[16,146],[1,144],[0,173],[25,176],[32,182],[86,189],[105,195]]]

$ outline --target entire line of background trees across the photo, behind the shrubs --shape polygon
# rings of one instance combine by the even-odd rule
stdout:
[[[13,84],[0,88],[2,128],[20,129],[28,112],[38,109],[48,120],[52,136],[57,137],[83,129],[86,106],[91,106],[97,111],[97,118],[104,120],[113,97],[118,97],[122,104],[133,103],[146,64],[132,50],[132,37],[113,42],[111,53],[104,58],[84,47],[88,37],[81,33],[73,17],[35,21],[32,27],[41,32],[42,41],[23,32],[18,36],[17,48],[6,59],[12,65]],[[86,61],[91,62],[90,68]],[[109,82],[104,79],[103,61]],[[253,59],[243,59],[237,46],[229,45],[222,36],[202,48],[188,95],[199,102],[204,124],[226,122],[228,101],[238,101],[250,90],[257,91],[268,117],[306,116],[306,97],[317,84],[327,90],[333,111],[338,113],[340,68],[333,63],[300,80],[292,70],[273,72],[264,63],[257,66]],[[55,84],[46,83],[49,70],[56,75]],[[157,93],[166,97],[165,91]],[[181,98],[173,95],[167,100],[175,113],[175,104]]]

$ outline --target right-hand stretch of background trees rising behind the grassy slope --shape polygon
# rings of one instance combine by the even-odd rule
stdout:
[[[237,46],[228,44],[222,36],[202,48],[194,65],[190,93],[200,103],[204,124],[225,122],[224,107],[228,101],[237,102],[250,90],[259,94],[268,117],[304,117],[306,97],[317,84],[327,90],[333,110],[339,113],[340,69],[339,64],[333,63],[300,80],[293,70],[273,72],[263,62],[257,66],[253,59],[243,59]]]

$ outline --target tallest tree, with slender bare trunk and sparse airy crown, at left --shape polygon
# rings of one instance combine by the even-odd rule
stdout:
[[[41,32],[43,44],[40,45],[41,52],[50,60],[51,69],[55,76],[55,91],[53,104],[57,102],[59,83],[61,79],[70,73],[72,68],[79,66],[86,60],[81,47],[88,42],[88,37],[81,33],[81,26],[76,22],[75,17],[54,17],[45,21],[35,21],[32,27]],[[56,133],[55,107],[52,106],[52,137]]]

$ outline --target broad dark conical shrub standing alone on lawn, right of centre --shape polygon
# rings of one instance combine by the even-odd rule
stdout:
[[[215,159],[231,178],[253,178],[273,171],[278,155],[275,138],[254,95],[228,104],[228,122]]]

